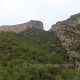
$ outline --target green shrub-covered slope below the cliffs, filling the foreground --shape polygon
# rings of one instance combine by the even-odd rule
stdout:
[[[0,80],[73,80],[77,71],[60,65],[69,63],[74,60],[54,33],[37,29],[0,33]],[[76,76],[79,80],[79,73]]]

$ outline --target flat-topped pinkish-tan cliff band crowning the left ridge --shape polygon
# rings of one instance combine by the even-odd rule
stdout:
[[[0,27],[0,32],[22,32],[30,28],[43,30],[43,23],[40,21],[31,20],[30,22],[17,25],[4,25]]]

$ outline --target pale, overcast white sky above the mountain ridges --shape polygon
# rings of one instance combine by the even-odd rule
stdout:
[[[80,0],[0,0],[0,25],[39,20],[44,29],[80,12]]]

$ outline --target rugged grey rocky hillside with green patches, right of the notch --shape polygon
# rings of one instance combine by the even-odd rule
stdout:
[[[69,55],[80,61],[80,13],[57,22],[50,31],[57,34]]]

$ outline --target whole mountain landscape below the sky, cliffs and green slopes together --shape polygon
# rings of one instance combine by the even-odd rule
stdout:
[[[0,80],[80,80],[80,15],[52,25],[0,27]]]

